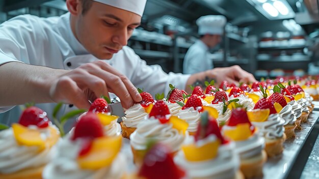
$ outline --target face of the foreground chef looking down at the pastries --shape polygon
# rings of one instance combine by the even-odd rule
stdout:
[[[81,3],[78,6],[82,11]],[[74,19],[76,38],[98,59],[111,59],[141,22],[135,13],[93,1],[85,14],[78,13]]]

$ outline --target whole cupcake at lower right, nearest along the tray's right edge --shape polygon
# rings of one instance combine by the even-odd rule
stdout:
[[[267,161],[267,154],[263,150],[264,138],[250,123],[244,108],[232,110],[230,119],[222,127],[222,133],[234,141],[235,152],[240,156],[240,168],[245,178],[262,176],[262,167]]]

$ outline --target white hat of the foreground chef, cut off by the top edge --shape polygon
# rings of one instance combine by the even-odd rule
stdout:
[[[123,9],[140,16],[143,15],[146,0],[93,0],[105,5]]]

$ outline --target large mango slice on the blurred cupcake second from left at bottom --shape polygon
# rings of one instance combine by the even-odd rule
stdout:
[[[79,156],[77,163],[82,169],[97,170],[110,166],[121,149],[122,136],[94,139],[88,154]]]

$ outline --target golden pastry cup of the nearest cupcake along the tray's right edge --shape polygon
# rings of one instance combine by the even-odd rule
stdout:
[[[267,154],[264,150],[259,155],[249,159],[241,159],[241,171],[245,178],[262,177],[262,167],[267,161]]]

